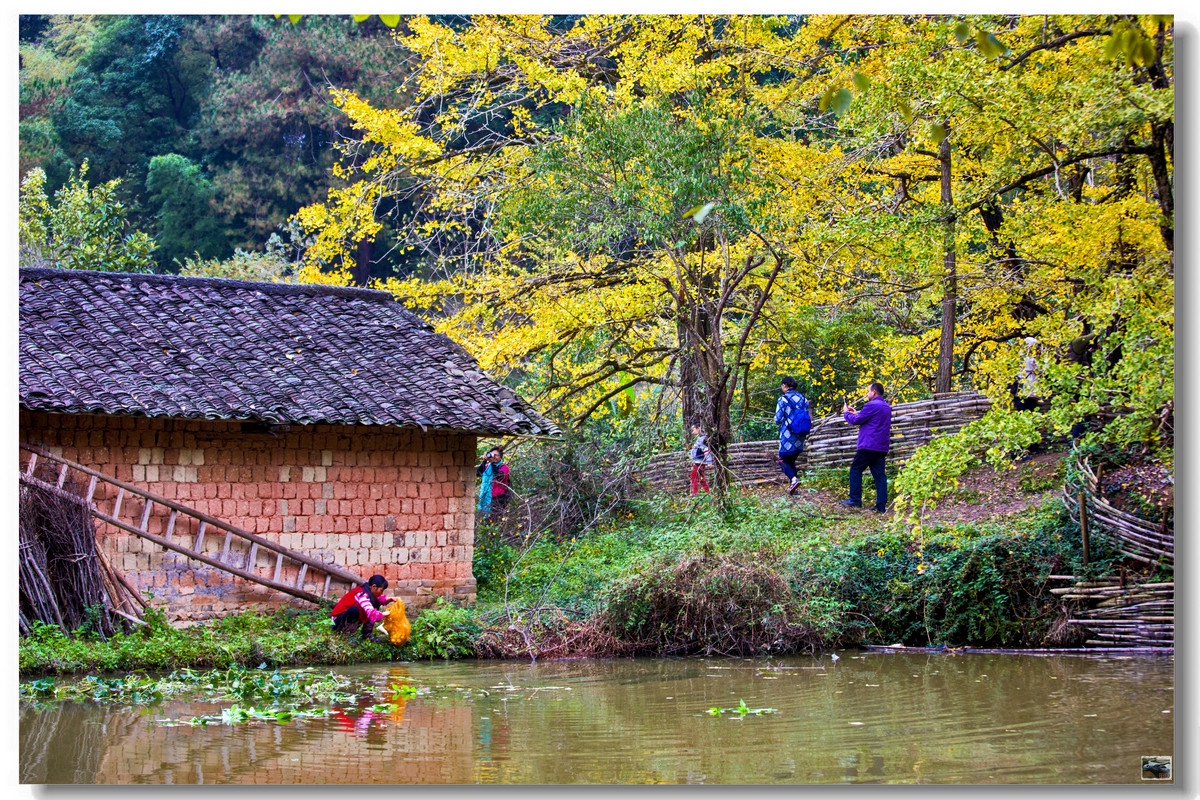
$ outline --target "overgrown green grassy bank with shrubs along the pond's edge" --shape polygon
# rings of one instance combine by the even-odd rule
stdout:
[[[820,476],[814,477],[820,481]],[[1093,552],[1103,571],[1104,553]],[[1098,558],[1099,557],[1099,558]],[[41,626],[23,676],[180,667],[287,667],[454,657],[768,655],[862,643],[1072,645],[1048,575],[1081,575],[1055,500],[913,536],[875,515],[787,498],[630,506],[587,534],[505,541],[480,531],[479,603],[414,619],[403,649],[330,631],[319,610],[246,613],[107,642]]]

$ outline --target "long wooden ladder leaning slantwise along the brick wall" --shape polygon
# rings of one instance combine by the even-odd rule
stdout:
[[[74,462],[66,461],[65,458],[54,456],[36,445],[23,444],[20,445],[20,449],[29,452],[29,461],[25,464],[25,469],[20,473],[22,483],[36,486],[77,503],[83,503],[88,506],[88,510],[95,518],[107,522],[110,525],[115,525],[121,530],[134,534],[146,541],[151,541],[164,549],[182,553],[190,559],[208,564],[209,566],[235,575],[239,578],[251,581],[269,589],[282,591],[317,604],[326,604],[330,602],[329,597],[331,589],[337,594],[337,596],[340,596],[341,593],[348,591],[350,588],[362,583],[362,579],[359,576],[348,570],[343,570],[342,567],[332,564],[324,564],[314,558],[305,555],[304,553],[299,553],[287,547],[281,547],[270,540],[256,536],[254,534],[242,530],[236,525],[210,517],[206,513],[190,509],[182,504],[175,503],[174,500],[168,500],[167,498],[148,492],[140,487],[133,486],[132,483],[126,483],[125,481],[119,481],[115,477],[97,473],[96,470],[89,469],[83,464],[77,464]],[[35,470],[40,462],[49,465],[52,470],[58,470],[56,482],[52,483],[35,475]],[[79,479],[79,474],[86,477]],[[74,479],[72,481],[73,486],[83,486],[86,481],[88,489],[84,495],[77,495],[64,488],[64,486],[67,485],[68,475]],[[94,499],[96,497],[96,489],[104,485],[115,489],[115,494],[110,491],[108,492],[109,494],[113,494],[113,503],[108,512],[101,511],[98,503]],[[130,498],[142,503],[140,516],[137,513],[133,515],[133,517],[138,519],[137,523],[126,522],[120,518],[121,506]],[[155,506],[161,506],[168,511],[166,529],[162,536],[150,533],[150,519]],[[181,521],[194,521],[196,523],[194,539],[190,537],[190,543],[180,541],[182,536],[176,534],[176,529],[181,527]],[[222,542],[220,553],[215,549],[205,553],[205,539],[211,537],[214,534],[216,536],[221,536],[222,534],[224,535],[224,541]],[[176,539],[173,540],[173,535],[175,535]],[[209,541],[211,542],[212,540],[209,539]],[[265,573],[260,575],[258,572],[258,564],[263,560],[262,557],[264,555],[266,560],[266,564],[264,565]],[[274,565],[271,564],[272,557]],[[296,569],[298,577],[295,583],[284,583],[280,581],[280,576],[283,573],[286,567],[288,567],[289,573],[292,567]],[[266,573],[269,573],[270,577],[268,577]],[[324,576],[324,581],[320,579],[322,576]],[[314,587],[319,587],[319,591],[310,591],[305,589],[304,587],[306,579]]]

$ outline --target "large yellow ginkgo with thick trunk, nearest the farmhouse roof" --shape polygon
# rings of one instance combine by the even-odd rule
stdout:
[[[442,329],[485,367],[535,372],[576,422],[636,386],[677,387],[720,462],[755,326],[793,261],[784,248],[828,216],[826,156],[785,130],[787,71],[766,58],[794,46],[779,28],[414,20],[412,108],[338,95],[365,130],[364,167],[301,212],[317,236],[310,254],[344,259],[380,224],[376,206],[403,181],[419,186],[409,243],[436,257],[442,279],[390,289],[440,309]]]

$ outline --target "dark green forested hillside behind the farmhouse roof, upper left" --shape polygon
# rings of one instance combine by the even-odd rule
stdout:
[[[22,17],[22,175],[41,167],[48,194],[85,161],[92,185],[119,180],[156,271],[292,243],[288,217],[324,197],[355,136],[330,89],[404,102],[391,34],[350,17]]]

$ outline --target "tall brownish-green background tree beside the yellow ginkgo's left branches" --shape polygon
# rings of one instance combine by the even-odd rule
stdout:
[[[407,73],[406,54],[377,22],[226,17],[198,26],[187,47],[217,66],[199,114],[197,150],[220,218],[242,248],[260,246],[328,190],[334,145],[353,136],[330,100],[332,86],[383,108],[404,101],[396,88]],[[377,258],[355,265],[360,283],[371,278]]]

